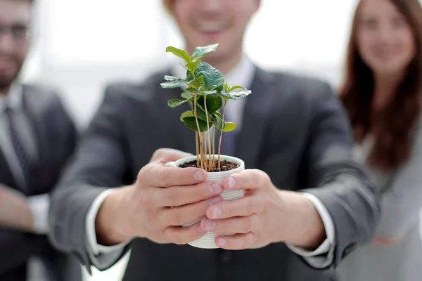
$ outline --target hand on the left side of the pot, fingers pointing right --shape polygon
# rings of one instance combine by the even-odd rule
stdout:
[[[187,244],[205,235],[199,223],[212,204],[222,202],[222,185],[205,182],[207,173],[197,168],[165,166],[188,156],[161,149],[139,171],[136,183],[119,188],[101,205],[96,233],[101,244],[118,244],[133,237],[158,243]]]

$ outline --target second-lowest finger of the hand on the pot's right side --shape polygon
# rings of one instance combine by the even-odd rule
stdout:
[[[212,233],[250,233],[259,229],[259,218],[256,214],[251,216],[238,216],[236,218],[224,218],[222,220],[210,220],[204,218],[200,222],[204,231]]]

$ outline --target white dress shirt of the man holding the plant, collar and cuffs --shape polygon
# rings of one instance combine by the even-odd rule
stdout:
[[[229,74],[225,75],[226,83],[229,86],[234,85],[241,85],[244,86],[246,89],[250,89],[252,84],[253,77],[255,75],[256,67],[252,63],[252,61],[246,56],[243,55],[241,62],[234,67]],[[175,77],[186,77],[186,70],[181,65],[177,65],[172,70]],[[259,95],[259,93],[252,93],[255,95]],[[241,129],[242,126],[242,119],[243,119],[243,110],[245,107],[245,98],[238,98],[237,100],[230,100],[229,105],[226,108],[226,116],[224,119],[230,120],[231,122],[235,122],[237,124],[236,129]],[[88,246],[91,248],[92,253],[96,255],[101,254],[115,254],[118,256],[121,254],[124,246],[126,246],[129,241],[123,242],[122,244],[117,244],[112,247],[106,247],[101,244],[98,244],[96,241],[96,232],[95,232],[95,218],[96,214],[98,213],[98,209],[101,207],[101,204],[106,199],[110,193],[113,192],[113,189],[106,190],[102,192],[96,199],[94,200],[91,208],[87,214],[86,220],[86,229],[87,229],[87,238],[88,238]],[[312,266],[315,268],[325,268],[329,266],[333,262],[334,256],[334,249],[335,249],[335,230],[333,219],[331,215],[328,213],[328,210],[324,206],[324,204],[319,200],[316,196],[305,193],[305,196],[311,200],[314,207],[319,212],[319,215],[322,218],[324,223],[324,227],[326,230],[326,240],[318,247],[318,249],[314,251],[307,251],[305,249],[301,249],[298,247],[293,247],[292,245],[287,244],[289,249],[294,251],[296,254],[299,254],[304,257]],[[91,258],[93,259],[93,263],[95,265],[95,256]]]

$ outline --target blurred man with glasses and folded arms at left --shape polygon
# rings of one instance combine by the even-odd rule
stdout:
[[[69,256],[46,237],[49,192],[75,149],[75,126],[56,92],[18,79],[33,5],[0,0],[0,280],[26,281],[28,261],[38,256],[42,280],[78,281],[80,266],[68,268]]]

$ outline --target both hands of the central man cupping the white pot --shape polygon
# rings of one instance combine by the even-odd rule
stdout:
[[[134,185],[118,188],[101,205],[96,233],[101,244],[133,237],[157,243],[187,244],[213,233],[236,233],[215,239],[223,249],[252,249],[271,242],[314,248],[325,239],[316,209],[298,192],[278,190],[267,174],[245,170],[223,183],[207,182],[203,169],[164,164],[190,156],[178,150],[157,150],[139,171]],[[223,188],[245,190],[245,197],[223,201]],[[181,226],[203,217],[199,223]]]

